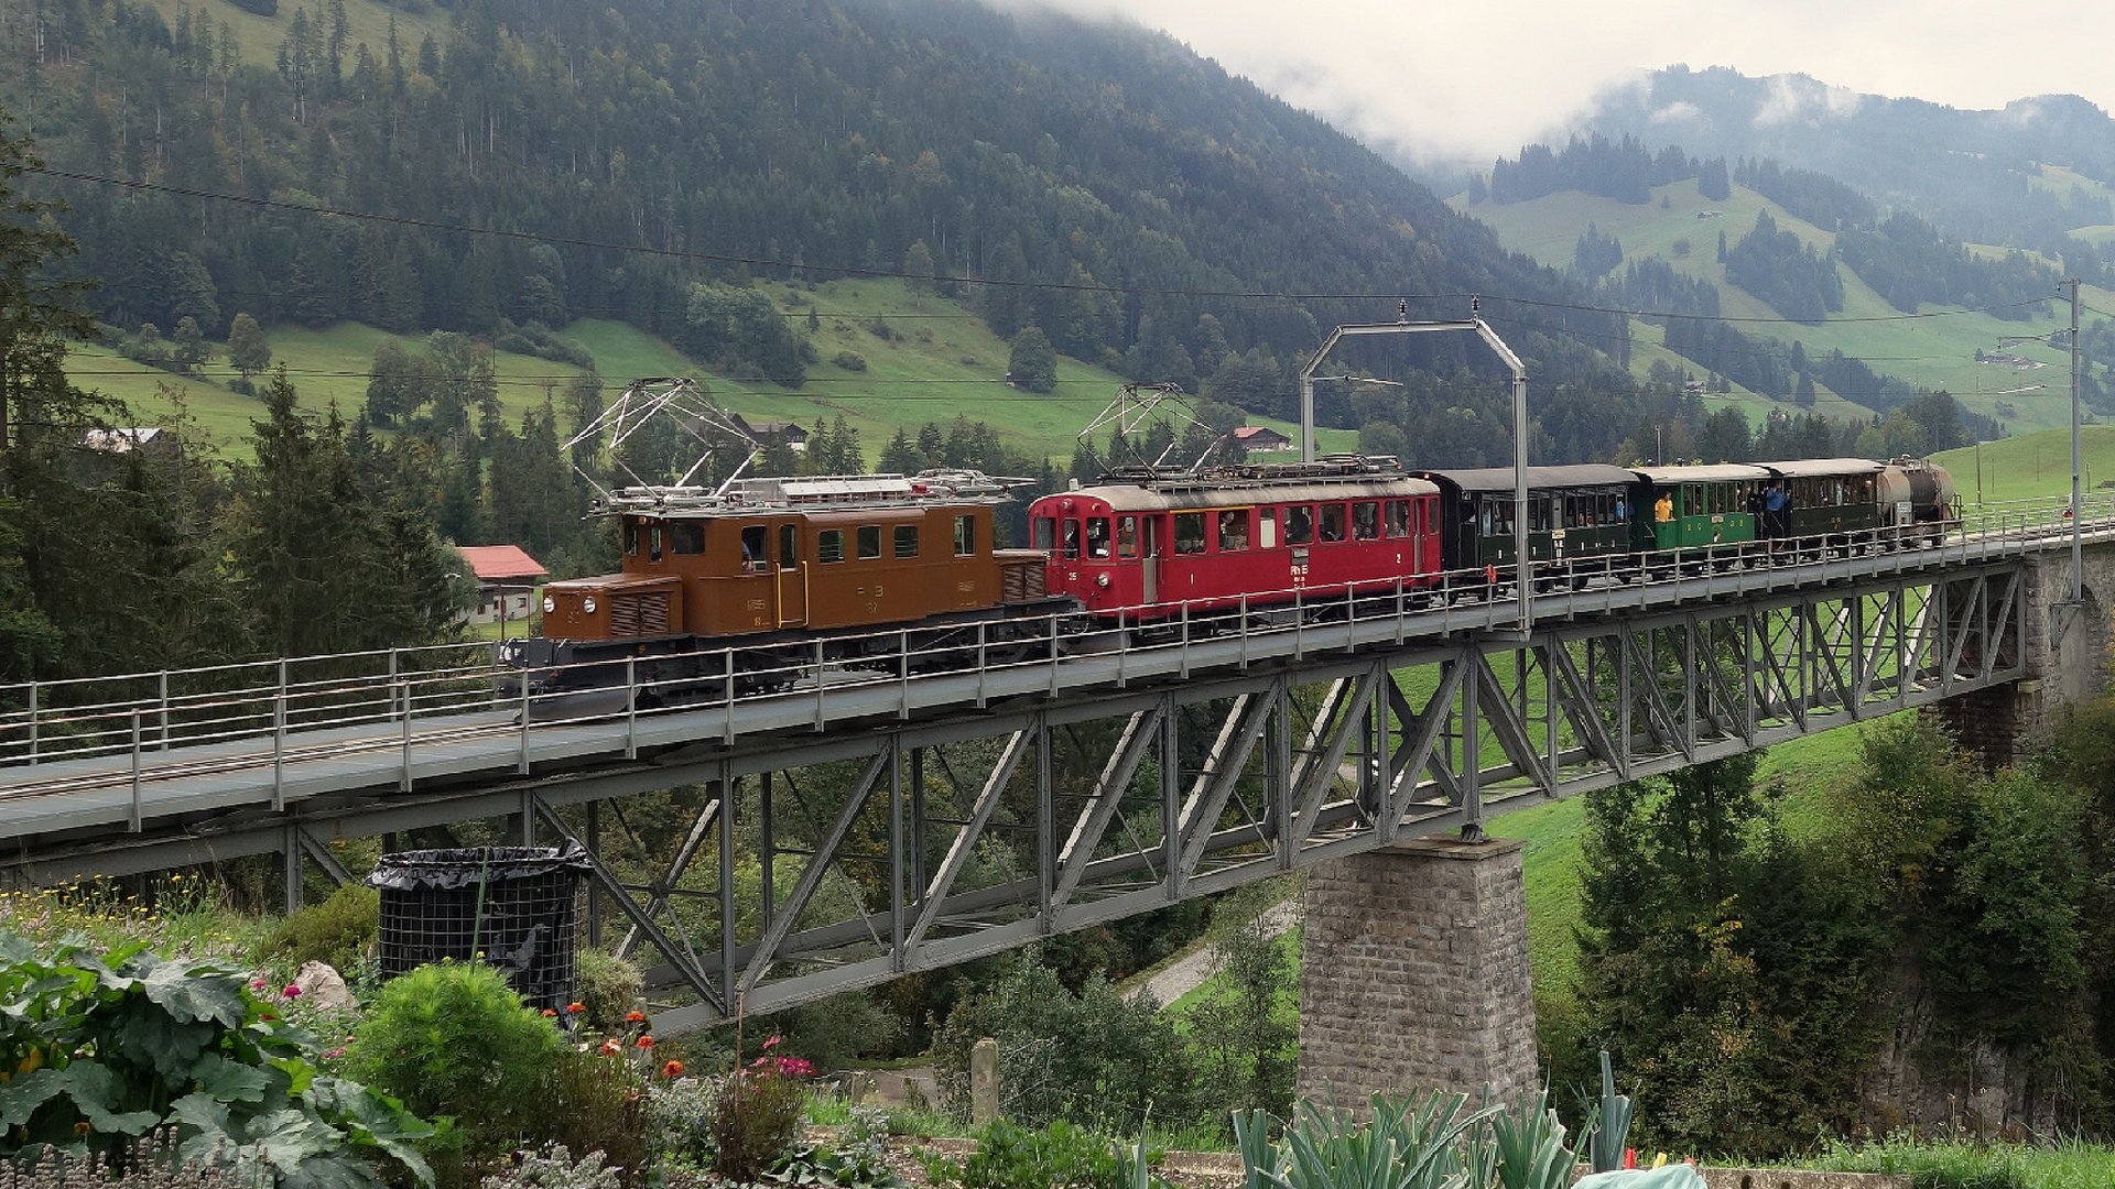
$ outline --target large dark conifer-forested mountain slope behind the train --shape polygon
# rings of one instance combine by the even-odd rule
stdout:
[[[594,315],[795,385],[797,334],[740,286],[909,271],[1003,336],[1271,406],[1398,294],[1580,294],[1163,36],[962,0],[76,0],[11,51],[0,93],[125,330]]]

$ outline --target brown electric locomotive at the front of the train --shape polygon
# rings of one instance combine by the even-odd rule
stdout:
[[[544,586],[541,635],[505,641],[501,660],[537,671],[535,690],[611,685],[624,662],[670,694],[725,677],[728,645],[757,690],[816,645],[833,664],[895,656],[886,628],[914,628],[914,650],[979,624],[986,641],[1047,639],[1041,618],[1070,601],[1043,594],[1041,552],[994,548],[1005,497],[975,472],[620,489],[596,510],[622,525],[622,571]],[[1007,630],[1026,620],[1043,630]]]

